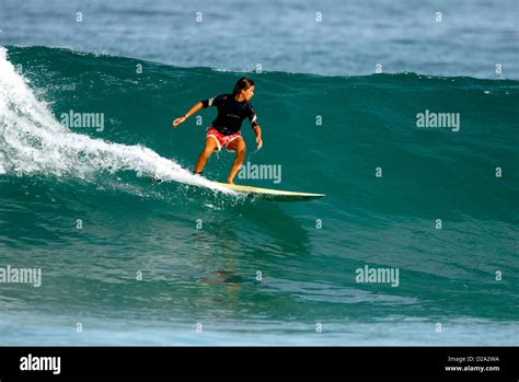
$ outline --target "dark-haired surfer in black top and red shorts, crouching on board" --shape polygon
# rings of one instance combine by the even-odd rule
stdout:
[[[260,150],[262,148],[262,129],[260,125],[257,125],[256,114],[250,103],[253,95],[254,82],[251,79],[243,77],[238,80],[232,94],[220,94],[209,100],[199,101],[189,109],[189,112],[187,112],[186,115],[173,120],[173,128],[176,128],[200,108],[209,106],[216,106],[218,108],[216,119],[212,121],[212,125],[207,128],[206,143],[198,155],[194,171],[195,174],[201,174],[201,171],[212,152],[215,150],[220,151],[223,147],[227,151],[235,151],[237,153],[234,162],[232,163],[231,172],[227,178],[227,183],[234,184],[234,176],[245,159],[245,141],[240,131],[245,117],[249,118],[251,126],[256,134],[257,149]]]

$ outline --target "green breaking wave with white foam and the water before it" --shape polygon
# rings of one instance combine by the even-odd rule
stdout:
[[[518,81],[246,73],[245,161],[279,172],[238,183],[326,194],[273,204],[191,175],[215,109],[171,128],[243,74],[0,50],[0,266],[43,278],[2,285],[5,343],[517,345]]]

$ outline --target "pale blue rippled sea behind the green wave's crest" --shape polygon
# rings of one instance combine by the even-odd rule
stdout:
[[[519,79],[518,13],[517,0],[2,0],[0,45],[177,67]]]

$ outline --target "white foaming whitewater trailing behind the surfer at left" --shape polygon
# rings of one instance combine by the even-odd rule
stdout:
[[[127,146],[71,132],[36,99],[0,47],[0,174],[44,174],[89,180],[108,171],[131,170],[138,176],[226,188],[191,174],[143,146]]]

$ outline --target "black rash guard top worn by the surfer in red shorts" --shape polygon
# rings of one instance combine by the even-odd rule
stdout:
[[[209,100],[201,101],[204,108],[216,106],[218,115],[212,121],[212,127],[226,136],[240,131],[245,117],[251,121],[252,127],[257,126],[256,113],[252,105],[246,102],[238,102],[232,94],[220,94]]]

